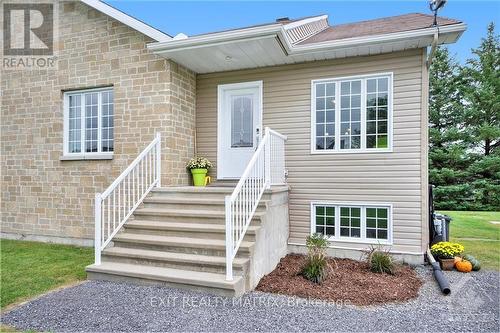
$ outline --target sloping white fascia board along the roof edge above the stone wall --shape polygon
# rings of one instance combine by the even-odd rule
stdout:
[[[163,33],[160,30],[155,29],[144,22],[141,22],[140,20],[130,15],[127,15],[124,12],[114,7],[111,7],[110,5],[102,1],[99,0],[80,0],[80,1],[158,42],[172,39],[172,37],[167,35],[166,33]]]

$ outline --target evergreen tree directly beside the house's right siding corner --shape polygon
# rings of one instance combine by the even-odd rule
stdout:
[[[473,200],[459,74],[448,49],[438,48],[429,72],[429,183],[437,209],[467,209]]]

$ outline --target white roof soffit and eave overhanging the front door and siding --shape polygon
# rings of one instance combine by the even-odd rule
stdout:
[[[303,24],[292,22],[292,28]],[[361,36],[320,43],[297,44],[287,24],[270,24],[148,44],[148,48],[197,73],[257,68],[297,62],[394,52],[431,45],[437,29]],[[439,44],[455,42],[464,23],[439,27]],[[239,54],[236,51],[239,50]],[[236,55],[236,56],[235,56]],[[229,59],[229,60],[228,60]],[[238,63],[239,62],[239,63]]]

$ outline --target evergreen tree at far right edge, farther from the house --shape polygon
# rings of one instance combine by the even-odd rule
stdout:
[[[500,210],[500,38],[490,23],[486,38],[472,50],[462,71],[467,128],[474,160],[467,172],[472,181],[470,209]]]

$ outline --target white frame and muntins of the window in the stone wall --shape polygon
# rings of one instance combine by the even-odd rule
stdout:
[[[80,89],[80,90],[68,90],[63,93],[63,113],[64,113],[64,126],[63,126],[63,156],[60,158],[61,160],[99,160],[99,159],[112,159],[113,158],[113,153],[112,152],[103,152],[101,151],[102,149],[102,128],[101,128],[101,122],[102,122],[102,97],[101,94],[98,94],[97,96],[97,152],[85,152],[85,98],[83,94],[85,93],[95,93],[95,92],[102,92],[102,91],[113,91],[113,96],[114,96],[114,87],[108,86],[108,87],[101,87],[101,88],[90,88],[90,89]],[[82,123],[82,130],[81,130],[81,151],[79,153],[70,153],[68,151],[68,141],[69,141],[69,96],[70,95],[75,95],[75,94],[82,94],[81,97],[81,123]],[[115,102],[113,100],[113,123],[115,119],[115,108],[114,108]],[[113,131],[114,131],[114,125],[113,125]],[[114,140],[115,135],[113,134],[113,146],[115,144]]]

